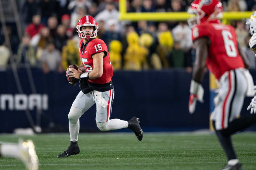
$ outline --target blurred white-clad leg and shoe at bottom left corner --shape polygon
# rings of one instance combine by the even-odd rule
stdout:
[[[38,158],[33,141],[19,140],[19,143],[0,143],[0,156],[22,160],[28,170],[38,169]]]

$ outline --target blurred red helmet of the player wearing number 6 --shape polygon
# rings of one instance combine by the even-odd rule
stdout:
[[[208,22],[222,18],[222,4],[218,0],[194,0],[188,10],[189,14],[195,14],[195,17],[188,19],[190,27],[200,22]]]

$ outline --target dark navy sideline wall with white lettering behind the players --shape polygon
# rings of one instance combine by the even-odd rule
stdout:
[[[11,70],[0,72],[0,132],[31,127],[26,117],[27,108],[33,122],[42,126],[43,132],[68,132],[67,115],[80,91],[78,85],[71,86],[65,73],[43,74],[41,70],[33,69],[37,94],[31,94],[26,70],[19,69],[18,72],[24,94],[18,94]],[[208,79],[207,73],[203,83],[206,89],[205,104],[198,103],[196,113],[190,115],[188,101],[191,74],[185,70],[116,71],[112,78],[115,96],[111,118],[130,120],[136,116],[144,131],[208,128]],[[37,108],[42,109],[42,114],[37,114]],[[81,132],[99,131],[95,123],[95,112],[96,107],[93,106],[80,118]]]

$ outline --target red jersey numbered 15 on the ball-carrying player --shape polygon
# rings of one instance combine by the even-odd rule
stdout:
[[[81,39],[79,44],[79,52],[80,52],[81,63],[86,68],[86,72],[93,70],[92,55],[96,53],[104,52],[102,76],[97,79],[88,80],[88,81],[92,83],[97,83],[97,84],[105,84],[111,81],[111,78],[113,76],[113,67],[110,62],[107,45],[104,43],[104,41],[98,38],[93,38],[84,45],[83,39]]]

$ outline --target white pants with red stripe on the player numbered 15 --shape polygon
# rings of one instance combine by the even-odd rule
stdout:
[[[96,122],[100,131],[111,131],[128,127],[128,122],[120,119],[111,119],[112,102],[114,100],[114,89],[99,92],[92,91],[84,94],[82,91],[78,93],[74,100],[69,114],[69,133],[71,141],[78,141],[79,118],[86,110],[96,103]]]

